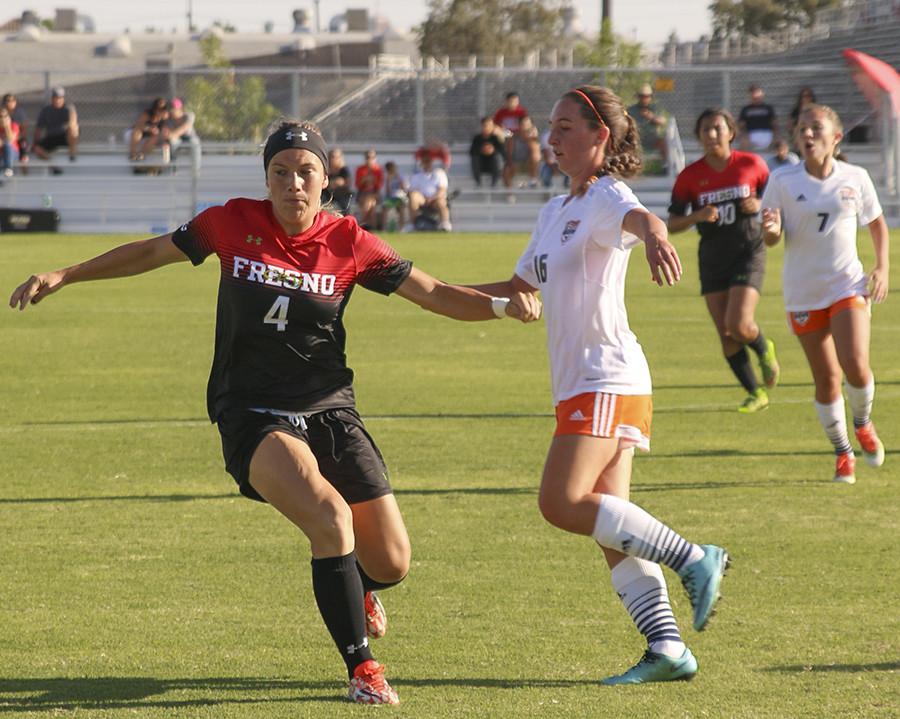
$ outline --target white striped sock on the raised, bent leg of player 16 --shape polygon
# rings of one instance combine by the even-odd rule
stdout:
[[[703,550],[696,544],[636,504],[611,494],[600,495],[600,509],[591,536],[603,547],[665,564],[676,572],[703,559]]]

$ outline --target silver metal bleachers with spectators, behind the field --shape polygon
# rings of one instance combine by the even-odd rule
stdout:
[[[39,209],[52,207],[60,215],[60,231],[73,233],[169,232],[196,211],[222,204],[232,197],[265,196],[259,150],[252,145],[204,146],[202,159],[190,153],[177,154],[170,165],[150,158],[143,166],[125,157],[124,149],[112,152],[103,145],[82,148],[74,163],[64,153],[51,162],[32,161],[28,173],[5,178],[0,186],[0,207]],[[347,163],[362,162],[365,146],[343,146]],[[412,144],[378,145],[379,160],[397,163],[409,177],[414,170]],[[883,162],[877,145],[855,145],[853,162],[867,166],[873,177]],[[696,142],[685,146],[687,162],[700,156]],[[62,174],[56,175],[56,166]],[[146,174],[144,174],[146,173]],[[451,219],[454,230],[463,232],[530,232],[541,206],[554,194],[565,192],[559,178],[551,188],[522,188],[511,191],[478,188],[469,174],[468,145],[451,147],[448,169],[454,194]],[[666,176],[639,177],[629,181],[641,201],[661,217],[666,216],[672,180]],[[513,201],[510,201],[510,196]],[[882,196],[885,213],[896,224],[900,206]]]

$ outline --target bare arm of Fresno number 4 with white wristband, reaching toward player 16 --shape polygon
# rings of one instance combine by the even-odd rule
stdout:
[[[409,277],[397,288],[397,294],[419,307],[455,320],[478,321],[496,319],[503,315],[531,322],[541,316],[541,303],[531,292],[489,294],[485,288],[503,287],[482,285],[478,288],[450,285],[435,279],[427,272],[413,267]],[[508,299],[508,303],[503,300]]]

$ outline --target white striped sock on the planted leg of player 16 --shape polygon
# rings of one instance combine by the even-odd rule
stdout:
[[[610,576],[635,626],[647,638],[650,651],[669,657],[684,654],[662,567],[646,559],[625,557]]]

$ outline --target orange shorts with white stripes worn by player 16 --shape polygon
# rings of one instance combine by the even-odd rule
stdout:
[[[590,437],[618,437],[627,446],[650,449],[653,401],[648,394],[585,392],[556,405],[556,432]]]

